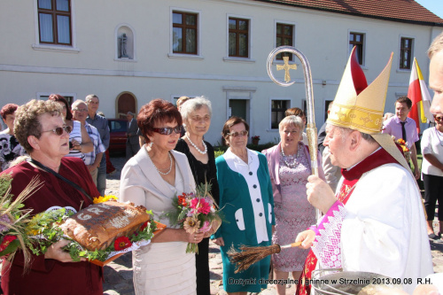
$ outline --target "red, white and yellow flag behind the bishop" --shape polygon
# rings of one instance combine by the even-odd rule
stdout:
[[[431,95],[423,79],[420,66],[414,58],[412,64],[411,77],[409,79],[408,97],[412,100],[412,108],[408,114],[409,118],[416,121],[417,132],[420,133],[420,122],[426,123],[428,120],[433,122],[434,118],[430,112],[431,108]],[[420,118],[418,116],[420,113]]]

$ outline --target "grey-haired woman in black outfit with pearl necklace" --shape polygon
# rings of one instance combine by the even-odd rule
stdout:
[[[214,148],[203,140],[209,126],[211,125],[211,102],[205,97],[195,97],[181,105],[183,123],[186,133],[179,139],[175,151],[183,152],[190,162],[190,170],[194,175],[195,182],[211,183],[210,194],[219,202],[219,186],[217,183],[217,170],[215,167]],[[209,236],[213,234],[210,230],[206,238],[198,243],[198,254],[196,254],[197,269],[197,294],[210,294],[209,279]]]

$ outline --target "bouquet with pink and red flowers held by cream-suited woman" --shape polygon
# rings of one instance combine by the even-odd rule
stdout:
[[[216,231],[221,225],[218,206],[209,194],[211,184],[201,183],[196,193],[184,193],[173,199],[174,208],[165,215],[171,224],[178,224],[187,233],[206,233],[210,236],[211,229]],[[198,253],[198,245],[188,243],[187,253]]]

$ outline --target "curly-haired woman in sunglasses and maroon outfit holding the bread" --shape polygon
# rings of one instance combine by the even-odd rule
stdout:
[[[37,177],[43,186],[24,202],[31,214],[65,207],[71,211],[92,205],[99,196],[81,159],[65,158],[69,152],[69,132],[61,117],[61,106],[52,101],[32,100],[21,105],[15,113],[14,131],[30,159],[4,170],[12,174],[14,196]],[[76,183],[89,196],[58,178],[64,176]],[[62,248],[60,240],[44,255],[32,255],[29,271],[24,271],[25,259],[17,252],[12,262],[4,260],[2,289],[4,294],[103,294],[103,269],[87,261],[73,262]]]

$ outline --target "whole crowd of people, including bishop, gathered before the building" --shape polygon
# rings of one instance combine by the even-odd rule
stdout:
[[[435,126],[421,139],[424,206],[416,184],[419,135],[408,119],[410,99],[400,97],[395,114],[383,122],[392,57],[368,85],[353,50],[320,129],[324,149],[316,163],[306,143],[306,114],[298,108],[287,110],[279,123],[279,143],[261,152],[247,147],[248,123],[230,117],[221,128],[228,147],[216,159],[205,140],[213,115],[206,97],[181,97],[177,107],[153,99],[137,115],[128,113],[120,201],[152,210],[154,219],[167,225],[151,244],[133,251],[136,294],[210,294],[210,238],[221,248],[223,288],[229,294],[259,293],[269,276],[286,279],[291,273],[308,280],[319,267],[410,279],[414,283],[404,285],[408,293],[418,279],[432,278],[429,238],[443,232],[443,34],[432,43],[429,57]],[[110,133],[98,106],[96,95],[69,105],[53,94],[46,101],[1,109],[7,128],[0,134],[0,162],[2,173],[12,175],[12,194],[19,195],[35,176],[45,183],[25,201],[33,214],[59,207],[77,212],[92,198],[105,196]],[[391,136],[405,141],[412,167]],[[314,167],[318,175],[312,175]],[[190,233],[165,212],[173,198],[195,192],[202,183],[211,184],[209,193],[223,218],[205,233]],[[315,209],[323,213],[318,221]],[[294,241],[301,245],[264,257],[241,273],[229,260],[229,249],[241,245]],[[4,294],[102,294],[103,268],[74,262],[63,251],[66,243],[60,240],[44,255],[32,255],[26,272],[21,252],[11,262],[4,260]],[[198,245],[197,254],[186,252],[189,243]],[[285,294],[284,285],[276,289]],[[298,284],[297,294],[310,291]]]

